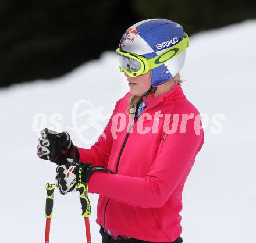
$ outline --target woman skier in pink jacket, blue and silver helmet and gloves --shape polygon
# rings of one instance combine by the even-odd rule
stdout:
[[[204,142],[198,110],[180,85],[188,43],[170,20],[134,24],[117,49],[130,92],[116,102],[98,141],[78,148],[68,133],[42,130],[38,156],[59,165],[60,192],[74,191],[82,171],[89,192],[100,194],[102,242],[183,241],[182,191]]]

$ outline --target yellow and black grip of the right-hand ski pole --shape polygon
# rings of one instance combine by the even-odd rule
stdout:
[[[88,186],[85,183],[79,183],[76,185],[76,190],[79,191],[79,198],[82,206],[82,216],[91,216],[91,205],[88,198]]]

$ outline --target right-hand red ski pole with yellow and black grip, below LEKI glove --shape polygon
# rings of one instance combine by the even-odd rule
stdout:
[[[79,183],[76,185],[76,190],[79,191],[79,198],[82,206],[82,216],[84,217],[84,223],[86,224],[86,240],[87,243],[91,243],[91,231],[90,231],[90,221],[91,216],[91,205],[88,198],[88,186],[84,183]]]

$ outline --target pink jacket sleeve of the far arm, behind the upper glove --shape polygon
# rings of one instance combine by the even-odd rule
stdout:
[[[111,124],[112,124],[113,116],[118,111],[119,101],[116,102],[115,109],[113,110],[111,118],[109,119],[109,122],[104,129],[106,139],[102,136],[102,134],[103,134],[102,133],[99,136],[98,141],[95,142],[95,144],[93,146],[91,146],[90,149],[77,147],[77,149],[79,151],[79,161],[80,162],[82,162],[82,163],[93,162],[93,164],[91,166],[107,167],[109,155],[111,153],[111,149],[112,149],[112,145],[113,145]]]

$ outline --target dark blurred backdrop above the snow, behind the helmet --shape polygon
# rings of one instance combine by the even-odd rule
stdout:
[[[127,27],[161,17],[188,34],[256,17],[256,1],[1,0],[0,87],[58,77],[105,50]]]

